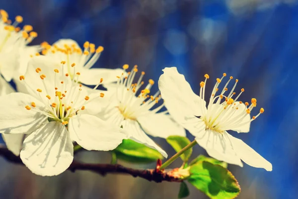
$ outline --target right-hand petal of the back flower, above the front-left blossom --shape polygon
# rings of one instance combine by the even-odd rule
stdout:
[[[103,84],[116,82],[117,76],[121,76],[123,73],[122,69],[92,68],[80,70],[79,81],[86,85],[97,85],[101,78],[103,79]]]

